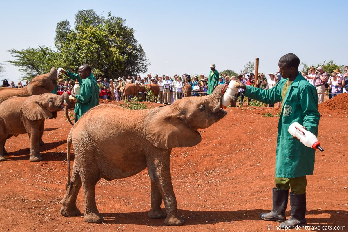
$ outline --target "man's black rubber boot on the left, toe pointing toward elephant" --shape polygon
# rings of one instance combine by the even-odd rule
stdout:
[[[284,222],[286,220],[285,210],[287,207],[289,190],[277,190],[277,188],[273,188],[272,195],[272,211],[268,214],[262,213],[260,217],[266,221]]]

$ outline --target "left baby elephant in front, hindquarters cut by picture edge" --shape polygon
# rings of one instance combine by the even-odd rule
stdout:
[[[10,97],[0,104],[0,161],[5,161],[5,142],[12,136],[28,134],[30,161],[41,161],[39,143],[44,133],[45,119],[57,117],[57,111],[71,107],[68,93],[62,96],[52,93],[30,97]]]

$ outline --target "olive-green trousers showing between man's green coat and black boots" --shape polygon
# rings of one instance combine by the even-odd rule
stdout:
[[[290,189],[296,195],[306,193],[307,178],[306,176],[295,177],[295,178],[275,178],[277,190],[288,190]]]

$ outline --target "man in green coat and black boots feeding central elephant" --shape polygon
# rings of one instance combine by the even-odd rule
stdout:
[[[244,95],[266,104],[282,102],[282,112],[278,122],[276,175],[273,188],[273,208],[260,217],[266,221],[277,221],[281,228],[307,225],[306,175],[313,175],[315,150],[304,146],[294,138],[288,128],[293,122],[317,136],[320,114],[316,88],[302,77],[298,71],[300,59],[292,53],[279,59],[283,76],[277,85],[269,90],[243,86]],[[238,87],[237,87],[238,88]],[[291,216],[286,220],[285,210],[290,192]]]

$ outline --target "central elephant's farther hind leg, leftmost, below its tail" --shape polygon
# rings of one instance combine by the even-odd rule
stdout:
[[[69,170],[70,171],[70,170]],[[74,161],[72,168],[71,185],[67,187],[65,196],[62,200],[62,208],[60,213],[65,217],[78,216],[81,214],[80,210],[76,207],[76,198],[81,189],[82,182],[79,170],[77,168],[77,160]],[[70,191],[69,191],[70,190]]]

